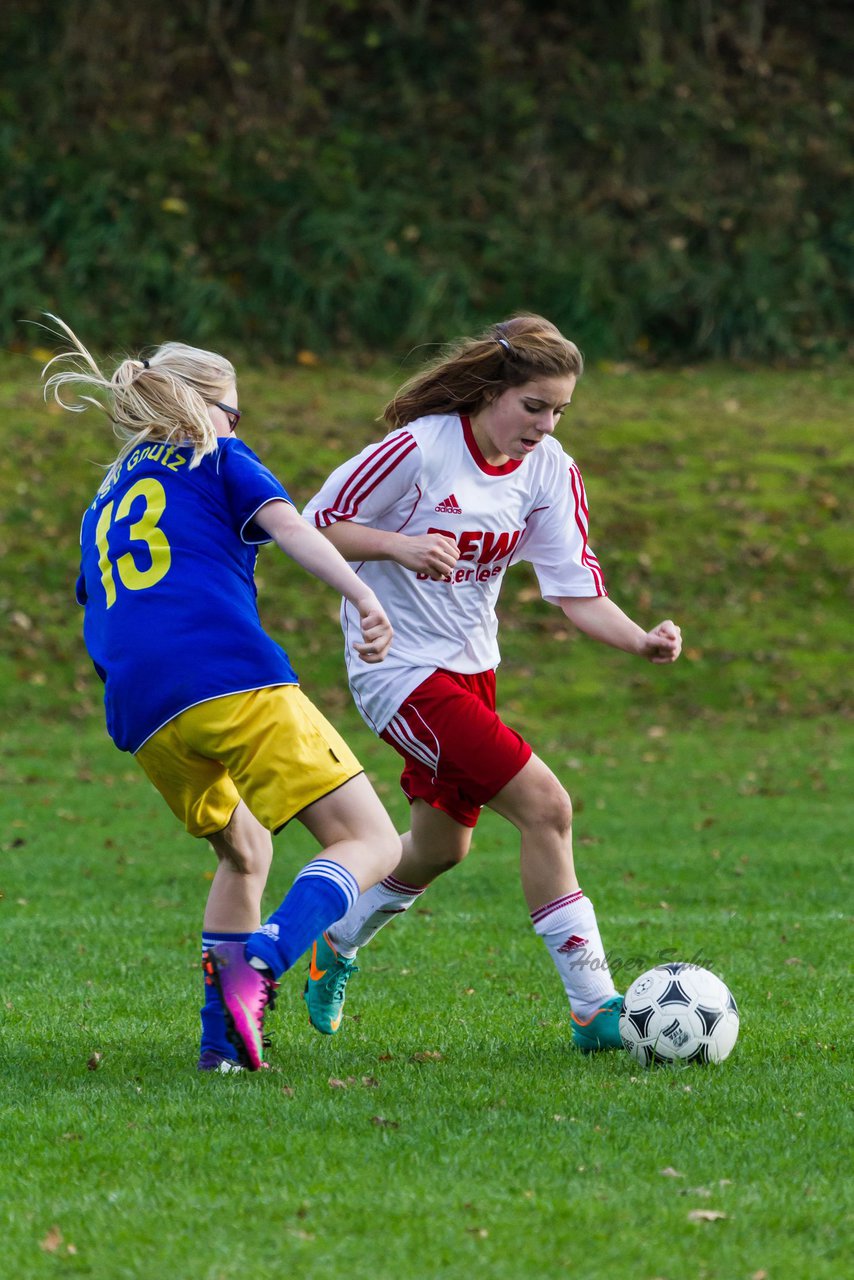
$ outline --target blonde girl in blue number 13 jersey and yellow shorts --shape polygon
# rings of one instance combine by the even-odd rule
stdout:
[[[257,1070],[277,979],[401,852],[357,759],[261,626],[257,547],[274,541],[355,605],[361,660],[383,660],[392,627],[373,590],[237,439],[228,360],[170,342],[106,375],[50,319],[70,346],[46,366],[45,394],[74,412],[101,410],[122,442],[83,516],[77,582],[108,730],[218,858],[198,1068]],[[271,833],[292,818],[321,852],[261,927]]]

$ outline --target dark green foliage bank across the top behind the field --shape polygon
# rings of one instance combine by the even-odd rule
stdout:
[[[831,355],[846,5],[18,0],[0,326],[287,357],[520,308],[598,356]]]

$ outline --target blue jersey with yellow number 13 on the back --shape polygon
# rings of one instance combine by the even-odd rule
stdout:
[[[257,547],[270,538],[254,517],[291,499],[232,436],[193,470],[191,457],[163,443],[134,449],[81,527],[83,635],[108,731],[125,751],[210,698],[297,684],[261,626],[255,588]]]

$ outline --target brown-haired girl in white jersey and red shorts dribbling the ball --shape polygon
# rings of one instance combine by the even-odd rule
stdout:
[[[312,947],[306,1002],[321,1032],[341,1024],[359,947],[466,856],[488,805],[520,833],[522,890],[574,1042],[620,1044],[622,998],[575,874],[570,797],[495,713],[495,602],[513,561],[530,561],[543,598],[595,640],[654,663],[681,650],[673,622],[644,631],[607,596],[581,475],[553,439],[581,371],[579,349],[540,316],[463,339],[401,389],[384,415],[392,433],[338,467],[303,513],[392,620],[382,671],[355,662],[350,643],[347,667],[362,717],[403,756],[411,801],[394,876]],[[342,625],[350,641],[347,600]]]

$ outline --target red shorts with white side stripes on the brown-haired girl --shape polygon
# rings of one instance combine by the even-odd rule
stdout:
[[[397,709],[380,737],[406,760],[401,786],[463,827],[531,756],[495,712],[495,672],[434,671]]]

